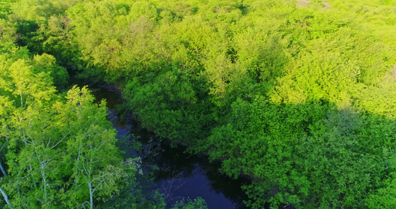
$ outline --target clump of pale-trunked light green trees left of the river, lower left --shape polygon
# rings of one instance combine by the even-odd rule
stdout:
[[[75,87],[66,99],[49,106],[31,104],[23,118],[11,102],[1,107],[1,116],[9,117],[1,121],[8,164],[2,187],[14,206],[94,205],[129,190],[125,181],[133,187],[134,176],[141,173],[140,159],[122,160],[105,102],[97,107],[87,88]]]

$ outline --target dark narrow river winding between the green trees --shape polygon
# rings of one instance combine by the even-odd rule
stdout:
[[[172,148],[166,140],[157,139],[136,121],[122,121],[116,113],[116,105],[122,102],[122,97],[114,86],[91,85],[88,88],[95,95],[95,102],[106,99],[109,109],[107,118],[118,130],[118,135],[130,134],[132,137],[129,140],[138,140],[143,144],[144,153],[150,155],[150,158],[143,157],[143,164],[157,164],[159,169],[155,172],[155,184],[150,189],[159,189],[164,193],[168,205],[200,196],[205,199],[208,208],[244,208],[242,201],[246,196],[240,187],[248,184],[248,179],[234,180],[223,176],[219,173],[218,162],[208,162],[205,155],[185,153],[184,146]]]

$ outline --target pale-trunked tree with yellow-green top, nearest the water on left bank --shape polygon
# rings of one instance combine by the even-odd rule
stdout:
[[[106,102],[97,108],[86,87],[80,91],[74,86],[66,98],[68,102],[56,107],[71,132],[64,159],[72,162],[72,185],[62,199],[69,206],[88,203],[93,208],[95,200],[118,192],[123,178],[140,171],[140,162],[138,158],[122,160],[115,146],[116,132],[106,121]]]

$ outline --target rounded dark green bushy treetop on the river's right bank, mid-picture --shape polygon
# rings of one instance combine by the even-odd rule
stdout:
[[[137,80],[129,82],[124,97],[143,125],[160,137],[189,142],[205,134],[200,130],[210,119],[205,116],[207,104],[198,103],[189,79],[180,72],[166,72],[145,85]]]

